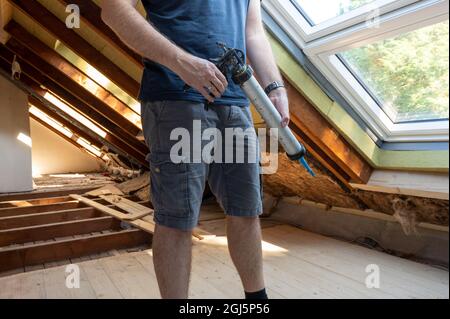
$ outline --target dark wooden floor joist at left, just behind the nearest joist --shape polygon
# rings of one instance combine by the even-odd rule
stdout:
[[[117,230],[120,220],[111,216],[71,220],[55,224],[0,230],[0,247],[44,241],[59,237]]]

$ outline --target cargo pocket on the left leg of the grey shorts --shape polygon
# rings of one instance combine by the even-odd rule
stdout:
[[[170,154],[151,153],[147,159],[156,213],[173,218],[190,218],[188,165],[173,163]]]

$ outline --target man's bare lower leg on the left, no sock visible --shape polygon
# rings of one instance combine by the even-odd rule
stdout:
[[[156,225],[153,263],[163,299],[187,299],[192,259],[192,234]]]

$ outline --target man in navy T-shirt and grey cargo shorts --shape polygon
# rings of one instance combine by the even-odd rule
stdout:
[[[223,53],[217,42],[241,49],[262,86],[289,123],[288,99],[261,21],[260,0],[103,1],[102,19],[145,58],[140,100],[150,148],[156,229],[153,260],[163,298],[188,297],[191,231],[197,225],[206,182],[227,215],[227,237],[246,298],[265,299],[259,164],[174,163],[176,128],[252,127],[249,101],[209,59]],[[189,89],[187,89],[189,87]],[[195,134],[194,134],[195,135]],[[194,150],[195,153],[195,150]],[[198,154],[193,154],[196,156]]]

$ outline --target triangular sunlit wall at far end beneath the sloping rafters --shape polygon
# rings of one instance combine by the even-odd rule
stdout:
[[[88,173],[101,169],[100,162],[39,122],[30,119],[33,140],[33,175]]]

